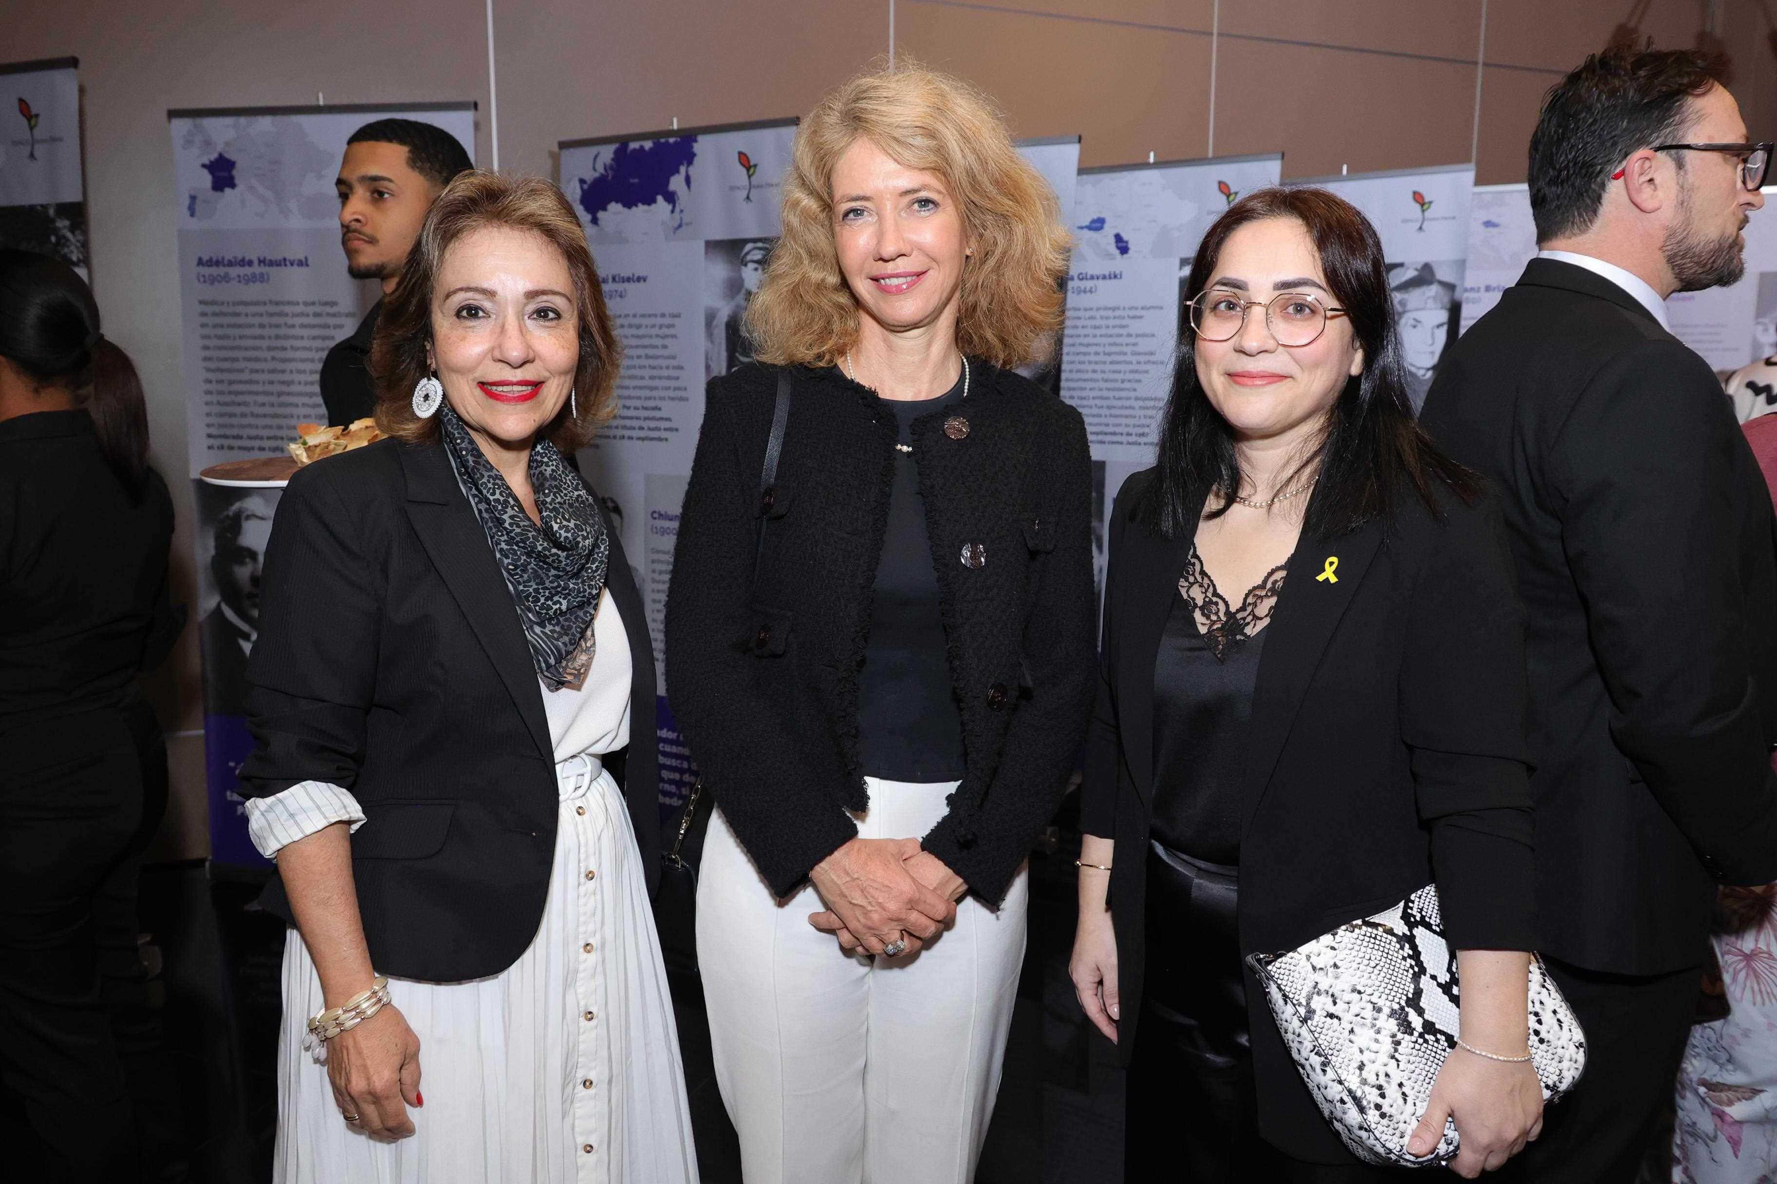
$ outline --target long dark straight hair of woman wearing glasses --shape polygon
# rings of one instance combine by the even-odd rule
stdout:
[[[1402,485],[1413,486],[1432,517],[1441,517],[1438,485],[1471,501],[1480,490],[1478,479],[1438,451],[1413,417],[1383,241],[1356,206],[1317,188],[1267,188],[1242,197],[1203,236],[1183,298],[1194,300],[1208,286],[1235,231],[1267,218],[1292,218],[1308,229],[1333,302],[1345,309],[1356,344],[1363,348],[1363,375],[1345,382],[1319,447],[1283,483],[1304,476],[1319,462],[1320,476],[1303,529],[1336,538],[1375,518],[1388,520]],[[1223,515],[1240,490],[1233,430],[1198,382],[1191,318],[1180,309],[1178,320],[1178,360],[1160,421],[1155,479],[1132,506],[1137,520],[1166,538],[1194,534],[1198,506],[1219,492],[1221,504],[1210,508],[1210,517]]]

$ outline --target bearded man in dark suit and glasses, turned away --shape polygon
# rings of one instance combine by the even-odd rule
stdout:
[[[1777,879],[1772,501],[1663,300],[1740,279],[1768,146],[1715,57],[1612,50],[1530,140],[1541,254],[1452,350],[1425,428],[1500,488],[1530,612],[1537,914],[1589,1063],[1532,1180],[1633,1180],[1715,884]]]

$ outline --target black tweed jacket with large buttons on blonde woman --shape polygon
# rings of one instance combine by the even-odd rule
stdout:
[[[1080,414],[972,360],[963,438],[933,412],[913,458],[942,588],[967,772],[922,836],[999,902],[1066,788],[1093,703],[1091,462]],[[666,685],[705,783],[789,895],[857,836],[858,669],[896,424],[837,369],[796,399],[753,582],[775,367],[709,383],[666,598]]]

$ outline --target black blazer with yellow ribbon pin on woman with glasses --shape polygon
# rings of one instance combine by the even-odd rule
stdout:
[[[1143,909],[1153,802],[1153,666],[1191,538],[1130,520],[1153,470],[1111,515],[1102,682],[1080,829],[1116,841],[1111,912],[1123,1019],[1141,1038]],[[1491,499],[1443,497],[1439,524],[1402,490],[1381,520],[1303,534],[1265,627],[1246,756],[1240,953],[1294,950],[1438,882],[1452,943],[1532,948],[1525,616]],[[1317,579],[1338,557],[1336,579]],[[1303,1159],[1349,1163],[1247,973],[1260,1133]]]

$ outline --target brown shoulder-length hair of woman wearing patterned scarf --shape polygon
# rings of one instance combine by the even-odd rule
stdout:
[[[562,408],[540,435],[563,453],[585,447],[599,426],[617,414],[617,367],[622,346],[604,307],[599,268],[586,249],[574,208],[562,190],[542,178],[503,178],[496,172],[458,174],[432,202],[419,238],[407,254],[402,279],[382,304],[377,335],[370,346],[370,373],[377,382],[377,426],[409,444],[437,440],[435,419],[414,415],[414,385],[432,373],[432,296],[444,254],[469,231],[505,225],[530,231],[554,245],[574,277],[574,307],[579,311],[579,369],[574,403],[579,415]]]

